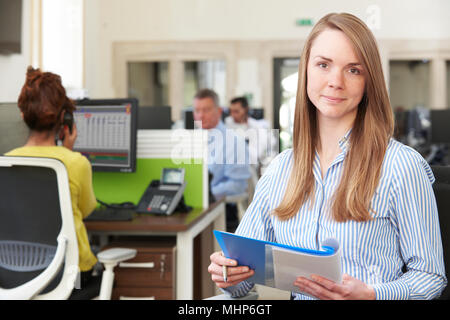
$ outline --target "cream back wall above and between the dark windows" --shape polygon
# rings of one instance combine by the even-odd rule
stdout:
[[[277,41],[291,41],[295,49],[286,52],[299,56],[302,40],[311,27],[298,27],[295,20],[317,21],[328,12],[343,11],[372,25],[379,42],[450,39],[450,19],[446,14],[450,12],[450,1],[446,0],[89,0],[85,3],[85,84],[92,98],[123,94],[117,82],[126,80],[117,79],[114,71],[114,46],[118,43],[233,42],[235,49],[231,50],[236,61],[228,70],[232,87],[227,88],[227,98],[252,91],[254,100],[265,105],[270,116],[272,88],[264,82],[272,76],[264,65],[270,59],[262,57],[266,43],[276,46]],[[387,67],[387,53],[383,50],[382,45]],[[250,83],[250,74],[259,82]],[[119,75],[124,77],[123,73]],[[178,112],[173,115],[177,118]]]

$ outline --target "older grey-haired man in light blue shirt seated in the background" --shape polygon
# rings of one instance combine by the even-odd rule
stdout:
[[[248,146],[233,130],[226,129],[218,100],[213,90],[202,89],[193,103],[194,120],[208,130],[208,170],[213,176],[210,188],[216,198],[245,192],[250,178]],[[228,231],[234,231],[237,226],[235,211],[233,206],[227,205]]]

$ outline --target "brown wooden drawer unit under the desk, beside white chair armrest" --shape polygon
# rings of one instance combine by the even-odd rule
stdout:
[[[175,245],[127,242],[108,247],[137,250],[136,257],[114,268],[112,299],[171,300],[175,292]]]

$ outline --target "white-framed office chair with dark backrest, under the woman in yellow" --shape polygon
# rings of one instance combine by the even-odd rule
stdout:
[[[100,299],[111,297],[114,266],[135,255],[125,248],[98,255],[105,266]],[[64,164],[0,157],[0,300],[67,299],[77,276],[78,245]]]

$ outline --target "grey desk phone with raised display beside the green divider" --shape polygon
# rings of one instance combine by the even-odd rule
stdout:
[[[185,187],[184,168],[164,168],[161,180],[153,180],[145,190],[136,212],[172,214],[183,196]]]

